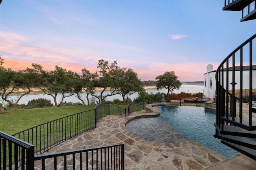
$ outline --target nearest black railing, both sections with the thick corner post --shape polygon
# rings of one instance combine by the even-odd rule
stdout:
[[[124,144],[35,155],[30,143],[1,131],[0,139],[3,170],[124,170]]]

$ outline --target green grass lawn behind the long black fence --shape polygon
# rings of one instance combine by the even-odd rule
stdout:
[[[96,105],[56,108],[46,107],[36,109],[18,109],[18,111],[8,110],[5,114],[0,114],[0,131],[12,135],[54,119],[94,109],[95,106]],[[127,107],[127,104],[118,104],[118,106],[125,108]]]

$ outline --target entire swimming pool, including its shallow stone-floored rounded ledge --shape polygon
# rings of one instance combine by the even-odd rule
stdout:
[[[178,130],[181,136],[184,135],[184,137],[182,137],[182,140],[189,139],[196,141],[204,145],[205,147],[208,147],[209,149],[214,150],[215,152],[218,152],[223,156],[226,156],[227,158],[238,153],[236,150],[231,149],[230,147],[227,147],[226,145],[222,144],[219,139],[213,137],[213,135],[215,134],[214,122],[216,119],[216,110],[193,106],[153,107],[160,110],[160,115],[150,118],[145,117],[134,119],[129,122],[132,123],[133,121],[135,121],[135,123],[133,123],[132,125],[133,129],[129,129],[129,123],[127,123],[126,128],[128,129],[128,131],[130,131],[133,134],[137,133],[137,135],[134,135],[141,137],[143,139],[145,139],[146,137],[147,140],[161,142],[160,139],[162,137],[156,134],[167,134],[166,130],[170,130],[171,128],[169,126],[171,126]],[[150,119],[152,121],[150,121]],[[156,123],[158,124],[157,126]],[[154,127],[156,128],[154,129]],[[160,127],[163,128],[162,132],[159,131]],[[171,141],[170,139],[168,140]],[[162,142],[166,143],[166,141]]]

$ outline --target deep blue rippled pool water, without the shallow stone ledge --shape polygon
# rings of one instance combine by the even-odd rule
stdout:
[[[213,137],[215,134],[216,110],[185,106],[154,107],[161,111],[161,114],[156,119],[168,123],[188,139],[196,141],[227,158],[238,153],[236,150],[222,144],[220,139]]]

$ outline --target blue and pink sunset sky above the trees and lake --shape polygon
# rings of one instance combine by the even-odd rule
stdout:
[[[95,72],[98,60],[131,68],[140,80],[174,71],[203,81],[255,34],[256,21],[223,11],[224,0],[3,0],[0,55],[4,67]]]

